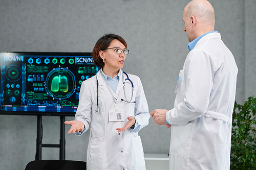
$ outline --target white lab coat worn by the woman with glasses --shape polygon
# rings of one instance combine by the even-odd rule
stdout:
[[[95,112],[96,76],[99,83],[99,114]],[[124,110],[125,120],[124,122],[109,122],[109,110],[115,109],[115,103],[100,71],[96,76],[82,83],[79,106],[75,116],[76,120],[84,124],[86,131],[90,126],[87,169],[145,169],[144,153],[138,131],[148,125],[150,113],[139,77],[128,74],[134,84],[132,102],[136,103],[126,103],[121,101],[122,98],[124,99],[123,80],[126,79],[126,75],[121,72],[116,94],[114,92],[113,94],[117,98],[118,109]],[[132,94],[130,83],[125,84],[125,93],[127,100],[130,100]],[[124,127],[128,116],[135,116],[138,126],[135,126],[134,130],[127,129],[117,133],[116,128]]]

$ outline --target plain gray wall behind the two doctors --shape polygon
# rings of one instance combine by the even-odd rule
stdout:
[[[179,70],[188,53],[182,12],[189,0],[2,0],[0,51],[91,52],[105,33],[122,36],[130,50],[123,70],[138,75],[150,111],[172,109]],[[216,30],[239,67],[236,100],[256,94],[255,0],[210,1]],[[66,117],[72,120],[74,117]],[[36,116],[0,115],[0,169],[24,169],[35,158]],[[43,143],[59,142],[59,117],[43,116]],[[66,159],[86,160],[89,131],[68,134]],[[145,153],[168,153],[170,130],[153,119],[140,131]],[[42,149],[42,159],[59,150]]]

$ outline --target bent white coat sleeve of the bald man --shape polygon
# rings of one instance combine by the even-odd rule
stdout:
[[[191,51],[188,54],[183,67],[184,98],[175,108],[165,113],[170,125],[186,125],[207,111],[216,67],[215,61],[211,61],[205,51]]]

